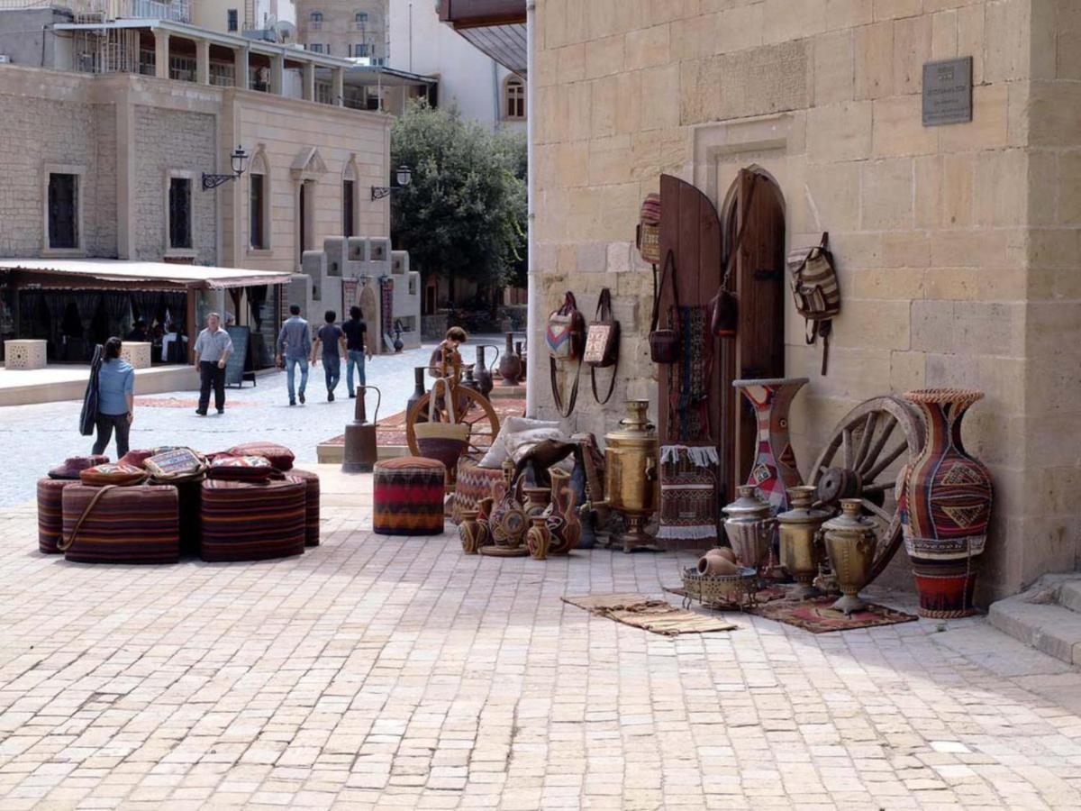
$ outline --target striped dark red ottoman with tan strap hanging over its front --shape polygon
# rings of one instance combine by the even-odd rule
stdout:
[[[64,489],[63,501],[59,548],[68,560],[175,563],[181,559],[179,508],[176,488],[170,484],[71,484]]]

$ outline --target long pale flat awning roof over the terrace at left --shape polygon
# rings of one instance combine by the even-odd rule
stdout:
[[[219,290],[286,284],[291,272],[126,260],[0,260],[0,281],[16,288]]]

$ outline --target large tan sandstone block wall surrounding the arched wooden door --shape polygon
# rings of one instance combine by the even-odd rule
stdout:
[[[1078,561],[1076,424],[1081,32],[1066,0],[537,0],[535,251],[547,313],[566,289],[623,325],[613,402],[656,399],[652,280],[638,207],[671,173],[718,205],[757,164],[784,195],[788,243],[823,230],[843,295],[829,374],[786,311],[786,365],[811,384],[792,431],[806,471],[860,400],[921,386],[986,399],[965,441],[997,504],[984,599]],[[973,56],[974,120],[921,124],[922,65]],[[543,324],[530,378],[551,415]],[[654,409],[653,413],[656,411]],[[619,408],[586,394],[575,428]]]

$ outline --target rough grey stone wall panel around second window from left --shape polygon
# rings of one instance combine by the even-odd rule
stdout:
[[[217,197],[203,191],[201,181],[203,172],[215,171],[215,116],[139,105],[134,119],[136,258],[158,262],[166,254],[190,254],[196,264],[216,264]],[[169,247],[165,207],[171,172],[190,175],[190,250]]]

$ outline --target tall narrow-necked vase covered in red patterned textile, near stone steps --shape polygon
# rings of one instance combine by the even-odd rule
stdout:
[[[961,421],[983,396],[959,388],[905,395],[919,409],[927,437],[908,465],[903,488],[905,548],[922,616],[973,613],[975,558],[987,543],[992,488],[987,467],[964,450]]]

